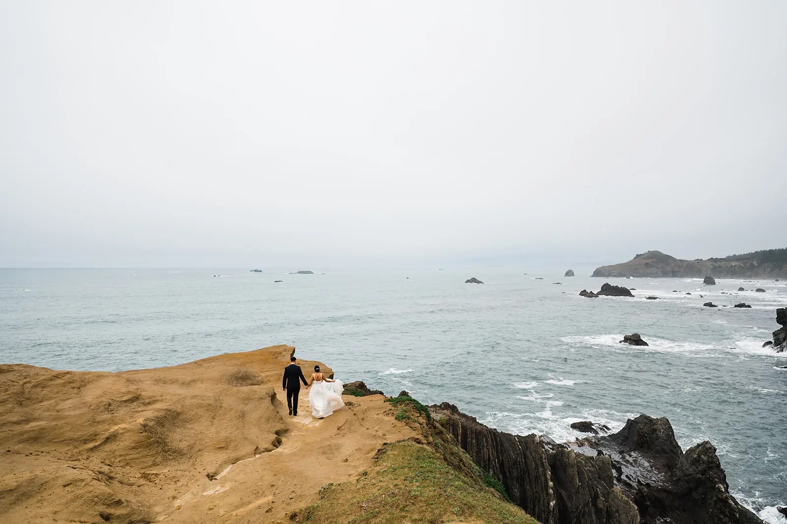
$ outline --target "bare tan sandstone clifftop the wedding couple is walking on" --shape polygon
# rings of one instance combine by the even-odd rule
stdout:
[[[283,522],[413,436],[379,395],[317,420],[301,389],[289,417],[292,352],[120,373],[0,365],[0,522]],[[298,363],[309,377],[315,362]]]

